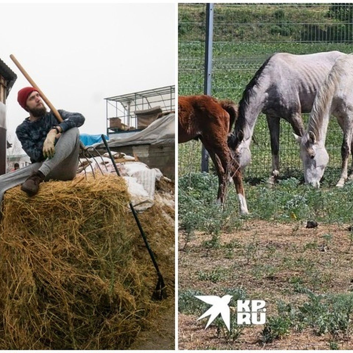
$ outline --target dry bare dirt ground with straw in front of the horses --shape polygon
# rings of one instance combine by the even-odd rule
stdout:
[[[179,233],[179,294],[188,289],[204,295],[219,295],[225,288],[244,288],[249,299],[266,300],[267,316],[276,314],[276,301],[303,303],[307,297],[293,291],[294,281],[314,293],[350,293],[353,291],[353,244],[350,225],[276,223],[246,220],[241,230],[221,234],[221,247],[206,249],[203,242],[210,235],[195,234],[190,241]],[[225,253],[226,244],[233,252]],[[229,247],[228,247],[229,249]],[[216,268],[228,269],[227,276],[213,281],[201,280]],[[207,319],[178,314],[179,349],[330,349],[329,334],[317,335],[312,328],[291,330],[281,339],[263,344],[259,340],[263,325],[246,327],[235,341],[217,335]],[[352,349],[353,337],[335,337],[338,349]]]

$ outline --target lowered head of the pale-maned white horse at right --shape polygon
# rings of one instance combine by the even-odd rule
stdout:
[[[300,158],[303,161],[305,183],[318,188],[329,162],[329,155],[325,146],[317,142],[312,131],[304,133],[302,137],[294,136],[300,145]]]

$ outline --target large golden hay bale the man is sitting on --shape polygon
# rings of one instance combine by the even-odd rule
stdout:
[[[113,175],[49,181],[32,198],[19,186],[5,193],[1,349],[131,344],[158,304],[151,301],[156,273],[128,200],[125,181]],[[174,226],[167,228],[174,240]],[[168,271],[173,286],[174,270]]]

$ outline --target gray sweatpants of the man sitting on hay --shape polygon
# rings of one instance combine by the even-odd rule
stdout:
[[[44,162],[29,164],[13,172],[0,175],[0,205],[4,193],[11,187],[20,185],[32,174],[40,170],[45,180],[72,180],[76,176],[80,148],[79,131],[77,127],[61,134],[55,145],[55,155]],[[0,210],[1,213],[1,210]]]

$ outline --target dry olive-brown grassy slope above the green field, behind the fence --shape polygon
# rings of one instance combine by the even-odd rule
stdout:
[[[179,38],[199,40],[205,31],[205,4],[179,4]],[[352,8],[331,4],[215,4],[215,41],[344,41]],[[343,25],[343,26],[342,26]]]

